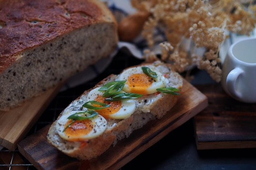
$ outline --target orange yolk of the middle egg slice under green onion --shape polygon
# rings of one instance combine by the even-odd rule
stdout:
[[[122,104],[121,100],[114,102],[104,101],[104,98],[101,95],[98,95],[95,98],[95,101],[110,105],[110,107],[108,108],[102,108],[97,110],[97,112],[105,118],[110,118],[109,115],[117,113],[117,111],[120,110]]]

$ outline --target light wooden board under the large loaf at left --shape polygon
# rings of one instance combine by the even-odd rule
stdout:
[[[0,146],[11,151],[17,148],[27,132],[39,119],[48,104],[56,96],[63,84],[49,89],[43,95],[34,97],[7,112],[0,111]]]

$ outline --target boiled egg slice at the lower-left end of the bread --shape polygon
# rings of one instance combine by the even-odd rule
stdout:
[[[56,129],[58,131],[58,135],[60,135],[63,139],[68,141],[81,141],[86,139],[92,139],[101,135],[107,128],[107,121],[101,115],[95,115],[94,117],[90,117],[83,120],[75,120],[72,124],[70,124],[73,120],[67,119],[70,115],[75,113],[78,116],[84,116],[84,111],[71,111],[65,115],[62,115],[56,123]]]

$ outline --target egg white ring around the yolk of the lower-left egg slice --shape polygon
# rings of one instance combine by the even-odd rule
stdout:
[[[66,123],[70,119],[67,119],[70,115],[73,115],[74,113],[80,113],[84,112],[81,110],[77,111],[71,111],[69,113],[66,113],[65,115],[62,115],[56,123],[56,130],[58,131],[58,135],[60,135],[63,139],[66,139],[68,141],[78,141],[78,140],[86,140],[86,139],[92,139],[95,137],[98,137],[101,135],[107,128],[107,121],[104,117],[101,115],[96,115],[94,117],[88,118],[90,119],[91,126],[93,126],[92,130],[88,134],[81,134],[79,136],[67,136],[64,129],[66,128]]]

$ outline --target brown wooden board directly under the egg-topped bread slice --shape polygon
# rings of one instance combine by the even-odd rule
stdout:
[[[184,80],[176,106],[162,119],[135,130],[97,159],[78,161],[56,150],[46,139],[50,125],[22,140],[18,149],[38,170],[118,170],[207,106],[207,97]]]

